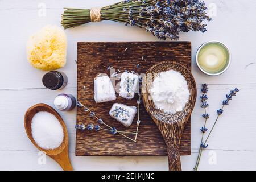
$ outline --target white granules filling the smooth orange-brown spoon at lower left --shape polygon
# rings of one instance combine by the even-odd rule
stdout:
[[[46,150],[59,147],[64,138],[59,120],[48,112],[36,113],[32,118],[31,129],[36,144]]]

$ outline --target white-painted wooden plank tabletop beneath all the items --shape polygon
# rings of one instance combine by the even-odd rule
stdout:
[[[146,41],[157,40],[136,27],[125,27],[115,22],[89,23],[66,30],[68,37],[67,73],[69,84],[60,91],[42,85],[43,71],[32,68],[26,59],[28,37],[46,24],[60,26],[63,7],[90,8],[110,5],[119,0],[73,1],[0,1],[0,169],[5,170],[60,170],[52,159],[38,163],[38,150],[28,140],[23,117],[28,107],[44,102],[53,105],[59,93],[76,96],[76,63],[78,41]],[[238,87],[241,91],[228,105],[218,121],[209,147],[203,153],[199,169],[229,170],[256,169],[256,2],[254,0],[209,0],[217,7],[216,17],[208,23],[208,31],[181,34],[180,40],[192,42],[192,73],[197,82],[198,96],[201,84],[209,84],[208,127],[216,118],[225,94]],[[46,6],[45,14],[42,9]],[[232,52],[232,64],[223,75],[210,77],[197,69],[195,53],[208,40],[226,43]],[[182,156],[183,169],[192,170],[200,142],[203,110],[197,99],[191,119],[192,155]],[[76,111],[60,112],[69,133],[69,155],[75,170],[167,170],[166,156],[75,156]]]

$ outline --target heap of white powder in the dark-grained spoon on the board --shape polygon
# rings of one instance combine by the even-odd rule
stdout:
[[[171,114],[182,111],[190,95],[187,81],[174,70],[159,73],[149,92],[156,109]]]

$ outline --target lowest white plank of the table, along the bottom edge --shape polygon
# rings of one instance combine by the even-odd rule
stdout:
[[[0,168],[5,170],[61,170],[60,166],[46,156],[42,164],[36,151],[0,151]],[[69,154],[75,170],[149,170],[168,169],[167,156],[83,156]],[[215,158],[216,156],[216,158]],[[213,159],[214,158],[214,159]],[[183,170],[191,170],[196,154],[182,156]],[[250,159],[250,162],[248,160]],[[39,162],[38,162],[39,161]],[[256,170],[256,152],[246,151],[205,151],[199,170]]]

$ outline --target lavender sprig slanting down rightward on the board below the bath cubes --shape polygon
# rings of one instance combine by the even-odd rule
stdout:
[[[126,137],[127,139],[130,139],[132,140],[133,142],[136,142],[136,140],[134,139],[131,139],[130,137],[128,137],[127,135],[123,134],[123,133],[127,133],[127,134],[134,134],[136,135],[137,133],[133,133],[133,132],[129,132],[129,131],[119,131],[117,129],[115,129],[114,127],[111,127],[109,125],[107,125],[101,118],[98,118],[96,113],[94,113],[93,111],[91,111],[90,109],[88,109],[88,107],[86,107],[85,105],[83,105],[81,102],[78,102],[77,101],[77,107],[80,107],[80,108],[84,108],[84,111],[86,112],[89,112],[89,115],[90,117],[92,118],[96,118],[97,119],[97,122],[100,124],[100,125],[105,125],[106,127],[109,127],[110,131],[112,131],[112,134],[120,134],[122,135],[123,137]],[[76,126],[75,126],[76,127]],[[76,127],[76,129],[80,129],[80,127]],[[100,129],[99,129],[100,130]]]

